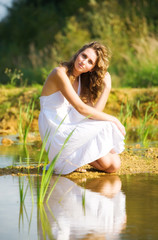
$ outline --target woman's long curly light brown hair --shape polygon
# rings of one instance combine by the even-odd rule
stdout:
[[[99,94],[104,87],[103,78],[109,67],[109,60],[111,52],[108,47],[95,41],[84,45],[79,51],[72,57],[69,62],[61,63],[62,66],[67,67],[67,75],[71,78],[73,76],[74,63],[78,55],[87,48],[92,48],[96,55],[97,60],[95,67],[91,72],[82,73],[81,76],[81,94],[80,97],[85,103],[94,104]]]

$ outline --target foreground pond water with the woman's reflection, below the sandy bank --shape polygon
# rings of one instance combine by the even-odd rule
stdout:
[[[28,177],[22,178],[25,190]],[[39,211],[36,180],[31,176],[34,203],[29,185],[20,207],[19,177],[0,177],[1,239],[158,239],[157,175],[104,176],[78,184],[61,177]]]

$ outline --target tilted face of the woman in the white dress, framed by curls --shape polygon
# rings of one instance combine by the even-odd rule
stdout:
[[[90,72],[96,64],[97,55],[92,48],[86,48],[81,52],[74,63],[74,74],[80,75],[81,73]]]

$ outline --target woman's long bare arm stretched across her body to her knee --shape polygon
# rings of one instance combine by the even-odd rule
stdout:
[[[125,128],[120,121],[109,114],[98,111],[97,109],[85,104],[73,89],[66,72],[62,68],[56,68],[51,79],[56,84],[58,90],[64,95],[68,102],[83,116],[90,116],[92,119],[114,122],[119,130],[125,135]],[[50,79],[50,80],[51,80]]]

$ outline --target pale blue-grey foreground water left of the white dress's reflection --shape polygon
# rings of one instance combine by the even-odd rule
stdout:
[[[0,176],[0,239],[38,239],[37,235],[37,205],[33,206],[30,192],[21,207],[19,177]]]

